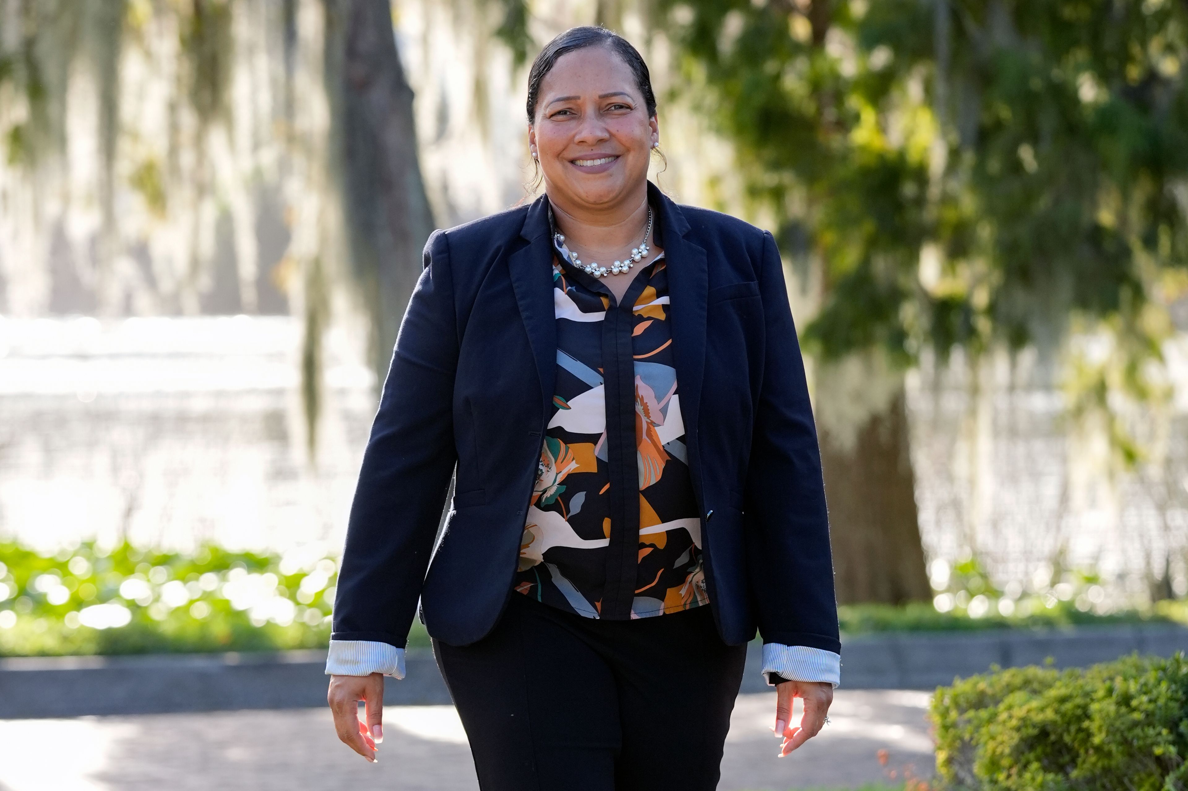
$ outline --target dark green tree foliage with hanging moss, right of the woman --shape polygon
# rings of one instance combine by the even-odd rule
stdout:
[[[1188,4],[658,5],[782,246],[821,267],[807,348],[909,366],[925,347],[1054,355],[1101,331],[1110,354],[1066,360],[1073,416],[1167,397],[1165,306],[1188,293]]]

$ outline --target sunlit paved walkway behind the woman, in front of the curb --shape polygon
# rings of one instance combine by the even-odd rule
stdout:
[[[775,694],[741,695],[722,760],[722,791],[854,787],[889,768],[931,767],[928,694],[839,690],[832,723],[789,758],[767,730]],[[476,791],[453,707],[385,710],[375,765],[334,735],[327,709],[0,721],[4,791]],[[878,751],[890,751],[884,767]]]

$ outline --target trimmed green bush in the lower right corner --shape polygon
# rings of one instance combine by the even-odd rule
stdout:
[[[999,670],[933,698],[937,789],[1188,791],[1188,658]]]

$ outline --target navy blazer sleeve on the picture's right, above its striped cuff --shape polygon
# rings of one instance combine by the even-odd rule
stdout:
[[[841,653],[821,453],[784,268],[763,234],[766,342],[744,492],[752,596],[763,641]]]

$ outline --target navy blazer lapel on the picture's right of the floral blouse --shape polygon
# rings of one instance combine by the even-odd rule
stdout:
[[[671,272],[669,298],[672,311],[672,352],[676,357],[676,380],[681,393],[681,416],[689,439],[690,462],[700,491],[701,454],[697,444],[697,418],[701,415],[701,386],[706,373],[706,303],[709,292],[709,270],[706,251],[685,239],[689,223],[681,208],[655,184],[647,184],[652,205],[659,208],[661,243]]]

